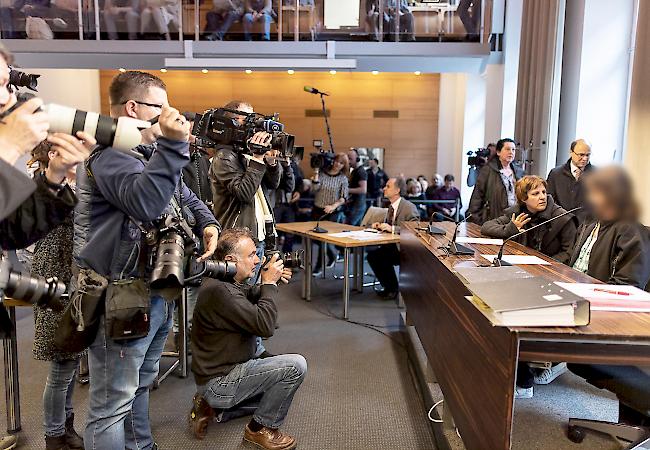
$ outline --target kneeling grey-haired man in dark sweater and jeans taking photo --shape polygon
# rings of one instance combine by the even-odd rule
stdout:
[[[215,416],[223,422],[254,409],[244,440],[263,449],[293,449],[296,440],[279,428],[306,375],[307,362],[296,354],[256,356],[256,336],[270,337],[275,331],[277,284],[286,283],[291,270],[274,254],[263,265],[262,284],[247,285],[260,260],[253,236],[242,228],[223,232],[215,256],[234,263],[237,271],[231,282],[207,280],[194,310],[192,372],[197,393],[190,413],[192,432],[203,439]]]

